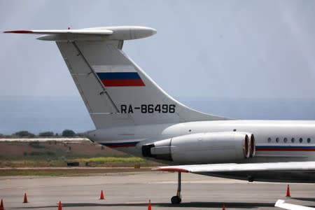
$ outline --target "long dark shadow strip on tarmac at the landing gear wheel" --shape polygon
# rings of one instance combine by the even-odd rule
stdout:
[[[152,207],[172,207],[172,208],[221,208],[222,202],[183,202],[181,204],[170,204],[170,203],[151,203]],[[233,209],[254,209],[258,207],[274,207],[274,203],[252,203],[252,202],[225,202],[225,208]],[[53,208],[55,206],[42,206],[42,207],[25,207],[22,209],[45,209]],[[63,203],[62,207],[148,207],[148,203],[138,204],[99,204],[99,203]],[[20,208],[18,208],[20,209]]]

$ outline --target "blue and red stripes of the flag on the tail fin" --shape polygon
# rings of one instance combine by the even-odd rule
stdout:
[[[99,72],[97,76],[105,87],[146,86],[138,72]]]

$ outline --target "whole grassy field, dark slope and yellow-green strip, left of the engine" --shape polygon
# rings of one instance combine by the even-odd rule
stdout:
[[[94,144],[52,144],[50,142],[19,142],[19,143],[2,143],[1,148],[8,146],[8,153],[5,150],[0,154],[0,176],[62,176],[69,174],[89,174],[103,173],[105,167],[129,168],[137,167],[137,170],[143,167],[156,167],[160,164],[137,158],[124,153],[115,153],[106,151],[95,146]],[[69,149],[73,146],[73,150]],[[85,153],[85,148],[90,148],[93,153]],[[20,151],[16,155],[10,151]],[[94,153],[95,151],[95,153]],[[107,153],[109,152],[109,153]],[[111,154],[111,155],[109,155]],[[80,164],[80,169],[67,167],[67,163]],[[10,167],[11,169],[1,169]],[[36,169],[25,169],[35,168]],[[43,167],[49,167],[48,170]],[[57,169],[64,167],[64,169]],[[85,167],[85,168],[83,168]],[[96,171],[101,167],[101,171]],[[16,169],[24,168],[24,169]],[[39,168],[39,169],[38,169]],[[93,169],[94,168],[94,169]],[[111,172],[113,169],[111,169]]]

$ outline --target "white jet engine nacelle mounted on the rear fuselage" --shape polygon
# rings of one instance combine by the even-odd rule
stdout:
[[[211,132],[189,134],[142,146],[144,157],[184,163],[231,162],[255,155],[253,134]]]

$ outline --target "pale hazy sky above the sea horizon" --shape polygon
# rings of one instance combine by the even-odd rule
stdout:
[[[174,97],[315,98],[315,1],[0,1],[0,30],[143,25],[124,50]],[[73,96],[53,42],[0,34],[0,96]]]

